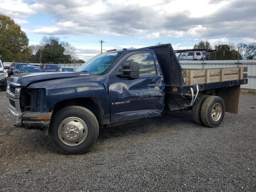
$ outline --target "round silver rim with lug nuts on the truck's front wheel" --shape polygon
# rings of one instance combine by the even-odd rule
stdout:
[[[86,123],[77,117],[64,119],[58,127],[58,136],[62,143],[77,146],[84,142],[88,134]]]

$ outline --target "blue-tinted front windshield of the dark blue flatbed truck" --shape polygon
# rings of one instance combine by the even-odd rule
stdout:
[[[82,64],[76,72],[88,72],[90,74],[104,74],[108,68],[120,57],[120,52],[98,54]]]

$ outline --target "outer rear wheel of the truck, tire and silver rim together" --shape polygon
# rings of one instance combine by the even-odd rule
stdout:
[[[214,114],[212,114],[214,110]],[[225,115],[225,104],[218,96],[209,96],[204,100],[201,108],[201,119],[205,126],[217,127]]]

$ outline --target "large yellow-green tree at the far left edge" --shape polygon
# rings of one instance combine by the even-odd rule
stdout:
[[[27,62],[28,38],[10,17],[0,14],[0,54],[6,62]]]

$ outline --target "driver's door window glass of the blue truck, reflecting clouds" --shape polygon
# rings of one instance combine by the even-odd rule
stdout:
[[[128,69],[130,62],[139,64],[140,77],[156,76],[156,67],[151,53],[137,53],[128,57],[121,65],[122,69]]]

